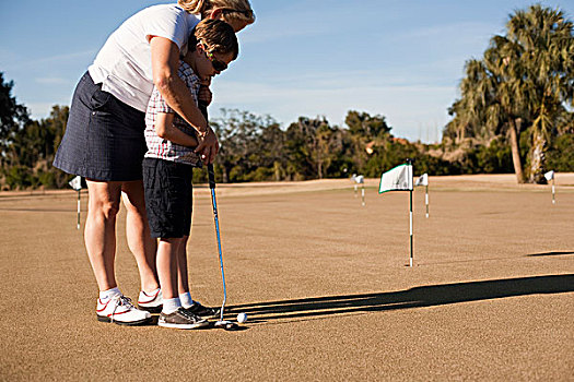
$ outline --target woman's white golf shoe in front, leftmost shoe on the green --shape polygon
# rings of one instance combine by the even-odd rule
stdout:
[[[150,312],[139,310],[124,295],[116,295],[107,302],[97,299],[97,321],[114,322],[120,325],[139,325],[151,320]]]

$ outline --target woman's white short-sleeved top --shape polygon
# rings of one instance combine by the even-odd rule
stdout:
[[[106,40],[87,71],[94,83],[122,103],[145,111],[153,91],[150,38],[165,37],[185,53],[200,15],[177,4],[147,8],[124,22]]]

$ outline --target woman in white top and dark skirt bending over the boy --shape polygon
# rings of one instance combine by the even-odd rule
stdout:
[[[179,0],[147,8],[108,37],[75,88],[54,165],[86,178],[84,240],[99,288],[99,321],[133,325],[151,319],[117,287],[115,231],[120,199],[127,210],[126,236],[138,263],[142,294],[157,297],[160,290],[156,242],[148,226],[141,172],[147,151],[145,107],[154,85],[172,109],[197,130],[197,152],[206,164],[218,153],[215,134],[177,75],[187,38],[204,17],[223,20],[235,32],[255,21],[248,0]],[[203,98],[210,100],[211,94]],[[161,301],[145,303],[153,308]]]

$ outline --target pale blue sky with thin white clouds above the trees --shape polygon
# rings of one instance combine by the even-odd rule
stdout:
[[[150,0],[1,0],[0,72],[32,117],[69,105],[107,36]],[[250,0],[256,23],[212,84],[221,108],[344,127],[349,110],[380,115],[395,136],[437,142],[465,62],[480,58],[520,0]],[[574,0],[540,1],[574,19]]]

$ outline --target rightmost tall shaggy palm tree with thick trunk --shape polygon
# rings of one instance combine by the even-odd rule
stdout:
[[[559,10],[531,5],[516,11],[507,23],[507,46],[524,71],[517,95],[531,120],[528,180],[546,182],[544,152],[564,104],[573,104],[573,24]],[[506,48],[506,46],[505,46]]]

